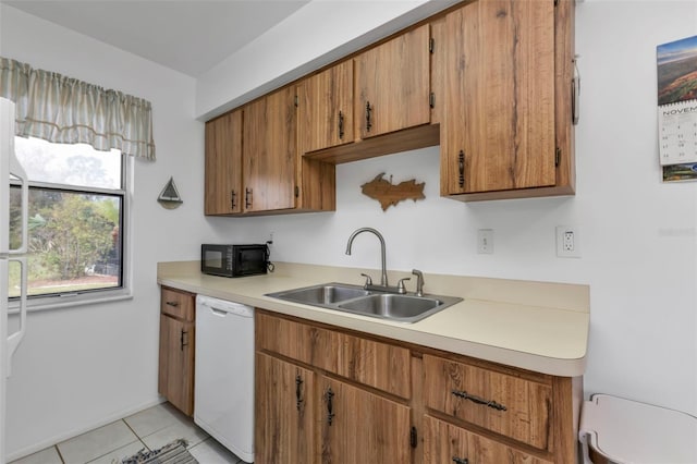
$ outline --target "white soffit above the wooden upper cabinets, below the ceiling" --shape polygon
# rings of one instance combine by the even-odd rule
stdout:
[[[457,1],[311,0],[197,80],[196,117],[211,119]]]

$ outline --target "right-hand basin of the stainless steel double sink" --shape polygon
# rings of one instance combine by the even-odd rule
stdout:
[[[341,309],[348,309],[368,316],[388,319],[412,319],[441,305],[440,300],[383,293],[369,295],[340,304]]]

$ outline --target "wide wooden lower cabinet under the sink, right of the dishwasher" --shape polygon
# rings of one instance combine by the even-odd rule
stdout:
[[[577,460],[580,377],[259,308],[255,318],[257,464]]]

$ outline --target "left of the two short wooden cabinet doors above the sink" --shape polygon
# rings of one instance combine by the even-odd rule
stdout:
[[[301,156],[353,142],[353,61],[304,80],[297,87]]]

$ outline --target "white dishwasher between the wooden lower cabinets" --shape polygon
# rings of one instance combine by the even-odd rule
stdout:
[[[194,422],[254,461],[254,308],[196,296]]]

